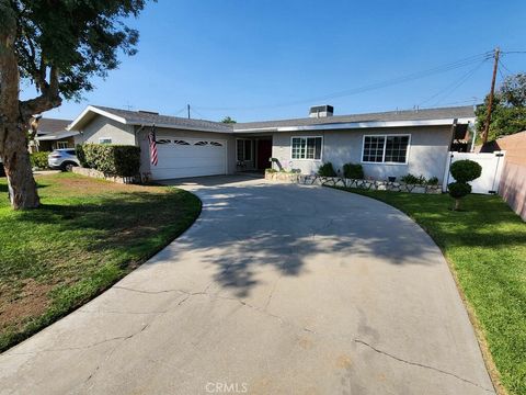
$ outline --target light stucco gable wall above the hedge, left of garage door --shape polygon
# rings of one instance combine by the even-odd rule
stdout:
[[[134,126],[123,125],[108,117],[98,115],[75,136],[76,144],[94,143],[99,138],[111,137],[112,144],[135,145]]]

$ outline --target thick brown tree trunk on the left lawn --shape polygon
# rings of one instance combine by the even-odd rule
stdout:
[[[3,10],[3,8],[2,8]],[[26,133],[28,117],[20,111],[19,65],[14,52],[16,22],[12,14],[2,15],[0,26],[0,157],[8,177],[13,208],[39,205],[31,170]]]

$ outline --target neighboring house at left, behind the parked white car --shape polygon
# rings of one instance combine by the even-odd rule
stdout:
[[[73,136],[79,134],[68,131],[69,120],[42,117],[38,120],[36,137],[30,143],[30,151],[52,151],[58,148],[73,148]]]

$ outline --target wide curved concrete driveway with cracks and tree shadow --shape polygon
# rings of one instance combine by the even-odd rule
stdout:
[[[1,394],[493,393],[447,264],[407,216],[210,178],[181,238],[0,357]]]

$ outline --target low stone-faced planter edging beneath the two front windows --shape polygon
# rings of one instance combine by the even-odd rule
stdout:
[[[357,188],[367,191],[393,191],[408,193],[442,193],[442,185],[408,184],[404,182],[355,180],[341,177],[305,176],[289,172],[265,172],[265,179],[277,182],[299,183],[304,185],[328,185]]]

